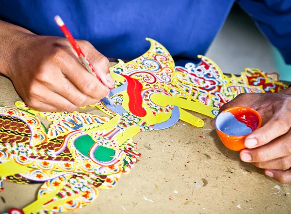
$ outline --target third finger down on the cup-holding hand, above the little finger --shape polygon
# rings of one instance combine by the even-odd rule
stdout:
[[[258,168],[269,168],[269,169],[289,169],[291,167],[291,155],[280,157],[277,159],[265,161],[265,162],[255,162],[253,163]]]

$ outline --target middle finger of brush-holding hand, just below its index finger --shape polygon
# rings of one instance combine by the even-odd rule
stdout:
[[[99,102],[99,100],[80,92],[65,76],[52,81],[49,89],[60,94],[77,107],[93,105]]]

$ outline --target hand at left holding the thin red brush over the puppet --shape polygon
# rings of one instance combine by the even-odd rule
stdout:
[[[66,38],[26,34],[14,41],[6,75],[29,107],[72,112],[96,104],[114,86],[108,59],[87,41],[78,44],[102,82],[84,68]]]

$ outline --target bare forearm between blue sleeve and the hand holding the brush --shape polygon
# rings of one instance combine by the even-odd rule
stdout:
[[[25,36],[33,34],[19,26],[0,20],[0,73],[9,76],[13,69],[12,61],[15,53],[24,42]]]

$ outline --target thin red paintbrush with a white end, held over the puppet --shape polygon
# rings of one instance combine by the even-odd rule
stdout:
[[[85,68],[87,69],[87,71],[89,71],[92,75],[96,76],[98,78],[98,80],[101,82],[100,77],[95,72],[95,70],[94,70],[93,66],[91,65],[91,63],[86,59],[85,55],[81,51],[80,46],[78,45],[78,43],[74,39],[73,35],[70,33],[70,31],[65,26],[65,23],[63,22],[63,20],[61,19],[61,17],[58,16],[58,15],[56,15],[54,17],[54,20],[57,23],[57,25],[60,27],[61,31],[63,31],[65,37],[69,40],[69,42],[73,46],[74,50],[77,52],[77,54],[79,56],[79,59],[81,60],[81,62],[83,63],[83,65],[85,66]],[[111,104],[111,106],[113,106],[113,101],[111,100],[110,96],[107,95],[106,98],[108,99],[108,101]]]

